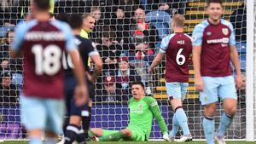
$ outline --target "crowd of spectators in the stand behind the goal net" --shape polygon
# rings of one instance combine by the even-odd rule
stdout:
[[[2,6],[8,4],[4,2],[1,3]],[[0,103],[17,102],[17,97],[22,92],[17,90],[22,87],[22,58],[10,59],[9,47],[13,42],[14,26],[24,19],[28,3],[26,0],[22,3],[21,1],[13,3],[20,5],[19,9],[2,7],[4,9],[0,11],[0,17],[3,18],[0,20],[2,26],[0,36],[4,39],[0,46],[0,97],[2,97]],[[154,60],[154,55],[159,49],[157,43],[160,43],[161,38],[158,27],[146,21],[146,14],[161,11],[171,17],[173,13],[183,14],[185,9],[185,2],[177,0],[86,1],[84,5],[87,7],[84,9],[81,2],[77,2],[79,8],[61,6],[63,3],[71,4],[68,1],[56,1],[55,13],[90,13],[96,21],[90,27],[93,31],[89,33],[103,60],[102,77],[97,79],[96,84],[96,101],[127,101],[131,95],[130,86],[133,81],[142,81],[146,87],[149,87],[148,66]],[[241,6],[241,9],[245,7]],[[12,14],[15,11],[17,13],[24,11],[24,14]],[[230,20],[235,20],[233,25],[236,28],[236,35],[243,43],[246,32],[244,12],[237,10],[237,14],[232,14],[234,17],[230,17]],[[166,35],[169,33],[166,32]],[[7,89],[11,90],[7,93]],[[7,95],[9,98],[3,98]]]

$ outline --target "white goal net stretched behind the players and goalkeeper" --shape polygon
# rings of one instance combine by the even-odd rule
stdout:
[[[158,53],[161,39],[172,33],[170,28],[172,14],[184,14],[186,18],[185,32],[189,35],[192,34],[196,24],[207,18],[207,14],[204,11],[206,3],[203,0],[161,2],[151,3],[148,0],[55,0],[54,14],[91,13],[96,17],[95,30],[90,32],[90,39],[96,43],[96,49],[102,55],[104,65],[102,76],[97,78],[94,85],[96,96],[90,128],[124,129],[129,123],[127,101],[131,98],[130,84],[132,81],[140,80],[146,85],[147,95],[153,96],[158,101],[168,130],[172,130],[173,111],[166,96],[165,60],[161,62],[160,66],[157,66],[153,76],[149,75],[148,66]],[[9,59],[9,45],[12,43],[10,33],[19,22],[24,21],[26,14],[29,12],[29,1],[3,0],[0,4],[1,73],[10,71],[12,73],[12,84],[14,84],[13,89],[0,89],[0,139],[23,139],[26,138],[26,131],[20,124],[18,104],[19,95],[22,93],[22,58]],[[135,10],[138,8],[145,11],[144,20],[148,22],[145,29],[147,29],[148,35],[138,31],[134,24]],[[235,27],[236,49],[241,60],[241,71],[244,79],[247,72],[246,14],[247,9],[243,0],[224,0],[223,18],[230,20]],[[139,49],[140,45],[146,47],[147,50]],[[255,45],[253,49],[255,49]],[[7,66],[5,66],[6,61],[9,63],[9,65],[6,64]],[[122,72],[125,69],[124,62],[128,62],[129,71]],[[202,128],[203,107],[201,107],[199,101],[199,93],[195,91],[192,62],[189,69],[189,89],[187,98],[183,101],[183,108],[188,115],[189,129],[193,137],[195,139],[205,139]],[[125,72],[129,77],[123,75]],[[2,78],[3,75],[1,74],[1,80]],[[255,89],[253,90],[255,91]],[[230,129],[227,131],[228,139],[245,139],[247,135],[246,88],[238,90],[237,95],[237,113]],[[253,101],[256,101],[255,99],[254,96]],[[219,124],[219,118],[223,112],[220,105],[221,103],[218,105],[215,116],[216,125]],[[254,114],[251,113],[254,117],[255,111],[254,108]],[[253,134],[254,139],[255,133],[256,130]],[[182,133],[179,132],[177,137],[180,135]],[[150,139],[160,138],[160,128],[154,120]]]

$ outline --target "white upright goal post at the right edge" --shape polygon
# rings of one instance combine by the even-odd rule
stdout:
[[[255,0],[247,0],[247,109],[246,140],[256,141],[256,15]]]

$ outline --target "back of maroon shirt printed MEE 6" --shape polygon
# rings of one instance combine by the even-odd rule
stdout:
[[[192,52],[191,38],[183,32],[173,33],[166,49],[166,82],[189,81],[189,55]]]

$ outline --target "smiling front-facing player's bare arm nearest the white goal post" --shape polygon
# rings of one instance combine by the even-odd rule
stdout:
[[[236,51],[236,46],[230,46],[230,59],[235,66],[236,70],[236,89],[241,89],[241,69],[240,69],[240,62],[238,58],[238,53]]]

